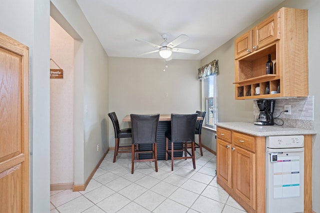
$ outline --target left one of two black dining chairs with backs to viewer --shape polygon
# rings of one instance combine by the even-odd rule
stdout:
[[[135,115],[130,114],[131,128],[132,128],[132,146],[131,146],[131,174],[134,171],[135,162],[154,161],[155,172],[158,171],[157,155],[156,155],[156,132],[159,122],[159,114],[152,115]],[[140,151],[138,146],[140,144],[152,145],[151,150]],[[149,159],[139,159],[139,154],[152,153]],[[135,158],[136,154],[136,158]]]

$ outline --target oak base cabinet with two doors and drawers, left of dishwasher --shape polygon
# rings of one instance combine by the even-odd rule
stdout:
[[[230,138],[225,138],[226,133]],[[219,127],[216,136],[217,183],[247,212],[264,212],[265,206],[257,208],[256,201],[257,196],[265,198],[265,173],[258,175],[260,180],[257,182],[256,170],[256,162],[262,159],[264,162],[265,157],[256,153],[257,149],[264,147],[257,146],[256,142],[264,140],[264,137],[253,137]]]

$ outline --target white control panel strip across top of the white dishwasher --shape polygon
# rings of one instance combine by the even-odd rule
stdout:
[[[299,148],[303,147],[303,135],[281,135],[265,137],[267,148]]]

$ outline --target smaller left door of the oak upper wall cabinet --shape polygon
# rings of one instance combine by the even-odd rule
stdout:
[[[249,30],[234,41],[234,58],[237,59],[251,52],[252,30]]]

